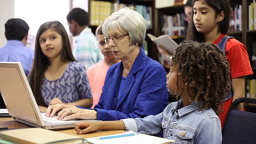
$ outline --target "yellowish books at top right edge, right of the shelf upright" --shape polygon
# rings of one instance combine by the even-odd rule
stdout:
[[[256,1],[248,6],[248,30],[256,30]]]

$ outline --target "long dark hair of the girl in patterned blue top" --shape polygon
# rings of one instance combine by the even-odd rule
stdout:
[[[74,61],[76,62],[76,59],[72,54],[69,37],[64,26],[58,21],[46,22],[42,24],[36,34],[34,64],[32,66],[28,79],[29,79],[29,84],[35,96],[37,104],[39,106],[45,106],[45,107],[48,107],[48,106],[42,98],[41,86],[43,84],[44,72],[50,65],[50,62],[48,60],[48,57],[44,55],[44,53],[42,52],[42,49],[39,43],[40,42],[39,38],[41,34],[48,28],[52,30],[56,30],[56,32],[58,32],[58,34],[60,34],[62,37],[62,44],[63,44],[62,51],[61,51],[62,62],[74,62]]]

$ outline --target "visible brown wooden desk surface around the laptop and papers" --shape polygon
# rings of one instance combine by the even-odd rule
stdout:
[[[26,124],[22,124],[21,122],[17,122],[13,120],[12,118],[0,118],[0,127],[8,127],[8,128],[32,128],[31,126],[28,126]],[[78,135],[77,132],[74,129],[69,130],[58,130],[57,132],[63,132],[66,134],[73,134]],[[89,134],[79,134],[78,136],[81,136],[83,138],[93,138],[97,136],[107,136],[111,134],[120,134],[124,133],[126,131],[124,130],[103,130],[98,132],[92,132]]]

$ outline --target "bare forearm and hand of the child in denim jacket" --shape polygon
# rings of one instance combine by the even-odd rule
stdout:
[[[96,130],[125,130],[125,125],[122,120],[104,122],[82,121],[76,123],[75,130],[78,134],[86,134]]]

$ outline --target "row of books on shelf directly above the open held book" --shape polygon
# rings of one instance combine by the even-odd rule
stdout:
[[[174,16],[163,15],[161,16],[162,22],[162,33],[168,34],[169,36],[182,36],[186,34],[184,20],[184,13],[177,13]]]

